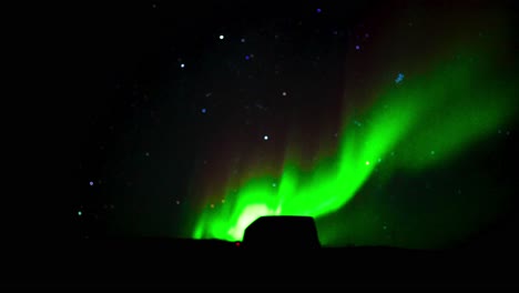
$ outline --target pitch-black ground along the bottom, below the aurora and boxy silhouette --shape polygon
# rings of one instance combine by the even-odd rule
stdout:
[[[516,219],[516,218],[513,218]],[[515,220],[444,251],[344,247],[246,251],[221,241],[113,239],[6,245],[19,289],[518,287]],[[495,241],[492,241],[495,240]]]

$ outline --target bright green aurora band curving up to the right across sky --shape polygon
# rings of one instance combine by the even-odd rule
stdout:
[[[406,74],[364,113],[362,128],[346,119],[335,155],[319,158],[308,171],[287,152],[278,185],[273,185],[274,176],[258,176],[228,186],[225,204],[204,211],[193,238],[236,241],[262,215],[330,214],[348,203],[391,152],[398,155],[393,169],[420,171],[447,162],[513,115],[513,85],[491,72],[484,60],[459,58],[427,74]]]

